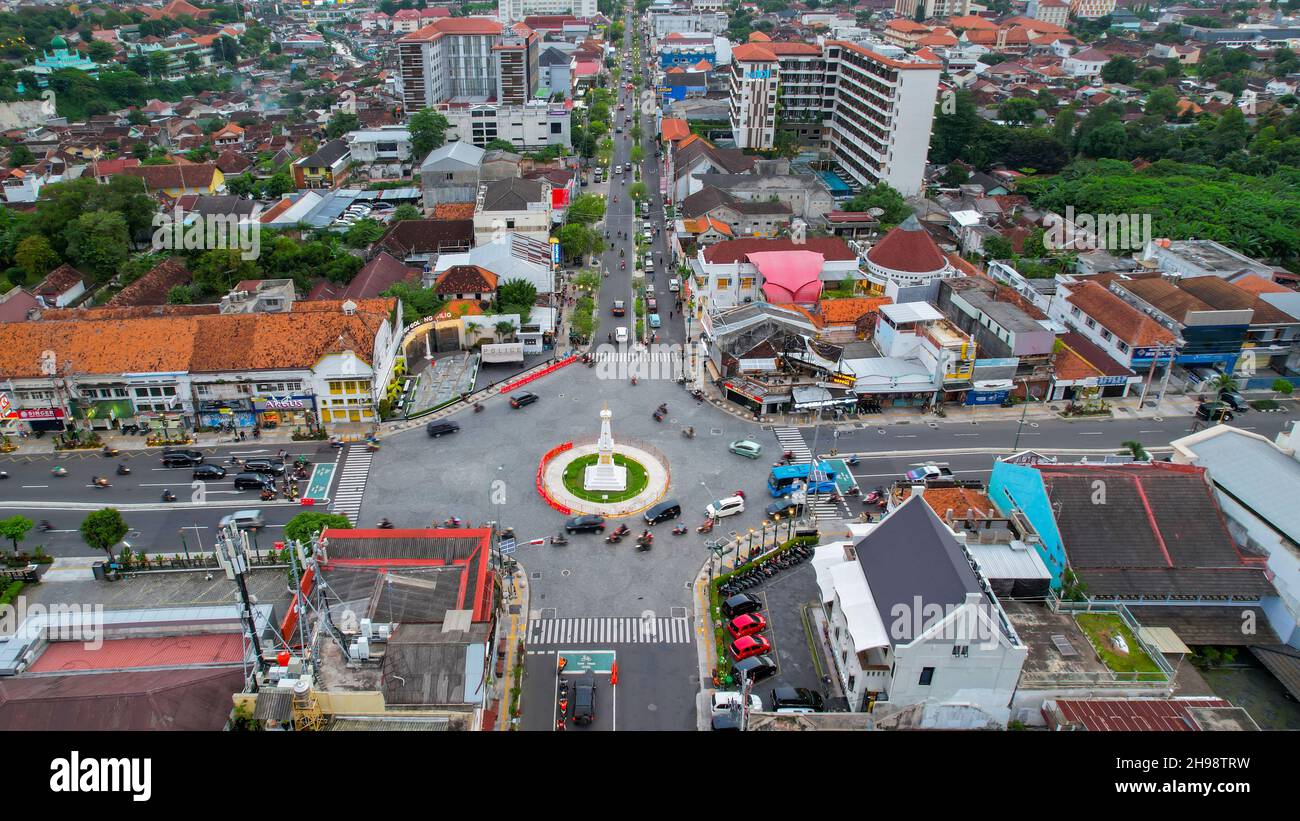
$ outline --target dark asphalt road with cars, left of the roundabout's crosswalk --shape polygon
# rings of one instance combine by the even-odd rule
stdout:
[[[208,462],[229,468],[229,459],[239,456],[250,459],[274,456],[283,447],[290,459],[306,455],[313,464],[332,464],[335,459],[328,444],[294,443],[286,446],[263,446],[242,443],[221,448],[199,448]],[[196,552],[212,546],[221,518],[234,511],[260,509],[266,521],[266,538],[277,538],[277,531],[302,508],[289,503],[263,503],[256,491],[235,491],[233,473],[230,478],[207,482],[204,504],[190,503],[190,468],[162,468],[157,448],[122,451],[116,459],[105,459],[98,451],[69,455],[6,456],[0,459],[0,469],[9,473],[9,479],[0,485],[0,516],[22,513],[39,522],[48,520],[52,531],[32,530],[23,546],[32,548],[40,544],[47,553],[61,556],[98,556],[99,551],[82,542],[78,527],[86,514],[94,509],[87,505],[147,505],[147,508],[126,508],[126,518],[131,533],[126,540],[138,551],[183,553],[186,548]],[[131,468],[130,475],[114,473],[118,462]],[[51,469],[56,465],[68,468],[68,475],[55,477]],[[109,479],[108,488],[96,488],[91,477],[104,475]],[[335,479],[337,481],[337,479]],[[161,501],[162,490],[172,490],[176,503]],[[185,533],[182,543],[181,533]]]

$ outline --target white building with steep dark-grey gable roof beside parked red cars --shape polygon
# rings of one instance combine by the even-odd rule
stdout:
[[[1028,657],[988,581],[919,492],[812,560],[854,711],[965,705],[1005,725]]]

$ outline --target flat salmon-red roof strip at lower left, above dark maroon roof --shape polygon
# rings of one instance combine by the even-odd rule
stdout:
[[[83,642],[52,642],[31,665],[32,673],[84,673],[131,668],[176,668],[196,664],[239,664],[238,633],[200,633],[160,638],[109,639],[98,650]]]

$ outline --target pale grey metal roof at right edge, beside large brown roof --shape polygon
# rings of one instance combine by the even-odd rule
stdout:
[[[1300,461],[1268,440],[1228,426],[1222,431],[1188,446],[1196,464],[1209,470],[1214,485],[1300,543]]]

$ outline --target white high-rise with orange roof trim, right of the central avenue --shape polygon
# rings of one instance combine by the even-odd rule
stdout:
[[[939,62],[887,57],[855,43],[753,42],[732,49],[737,148],[772,148],[777,130],[829,152],[858,184],[920,191]]]

